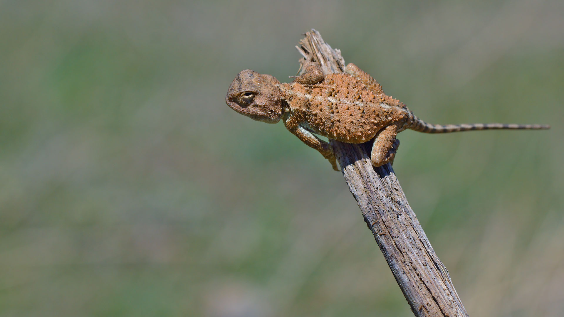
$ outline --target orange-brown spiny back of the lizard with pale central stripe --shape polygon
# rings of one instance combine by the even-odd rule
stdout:
[[[398,100],[374,94],[349,74],[327,74],[316,85],[281,85],[290,113],[312,133],[347,143],[363,143],[393,122],[407,122],[411,113]],[[395,105],[394,105],[395,102]]]

